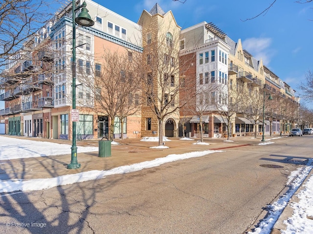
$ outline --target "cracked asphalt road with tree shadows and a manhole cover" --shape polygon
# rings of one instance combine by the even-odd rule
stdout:
[[[312,157],[312,139],[284,137],[101,180],[0,196],[0,233],[243,234],[285,188],[290,173]]]

